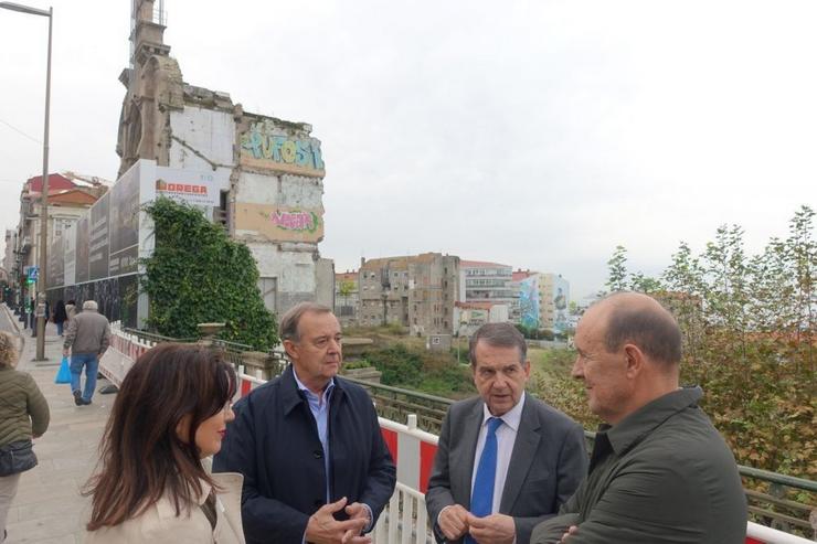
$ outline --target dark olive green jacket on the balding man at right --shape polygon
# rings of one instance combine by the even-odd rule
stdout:
[[[590,473],[532,544],[743,544],[746,497],[700,387],[664,395],[596,435]]]

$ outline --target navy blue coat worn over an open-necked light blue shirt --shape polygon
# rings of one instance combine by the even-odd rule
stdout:
[[[346,497],[378,515],[396,480],[369,394],[335,377],[329,406],[331,502]],[[300,543],[309,516],[326,503],[326,465],[318,427],[291,365],[238,401],[214,472],[244,474],[242,518],[247,544]],[[336,514],[346,519],[343,512]]]

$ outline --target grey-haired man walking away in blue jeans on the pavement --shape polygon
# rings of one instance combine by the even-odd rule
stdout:
[[[110,324],[97,309],[98,306],[93,300],[83,302],[83,311],[71,320],[63,342],[63,356],[71,353],[71,392],[77,406],[91,404],[96,388],[99,358],[110,343]],[[85,390],[81,391],[79,376],[83,367],[85,367]]]

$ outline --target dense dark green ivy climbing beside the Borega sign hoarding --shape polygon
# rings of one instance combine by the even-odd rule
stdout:
[[[195,207],[158,199],[145,206],[156,249],[145,259],[142,289],[150,297],[148,327],[173,338],[198,335],[198,323],[226,323],[224,340],[266,350],[278,342],[275,316],[258,292],[250,249]]]

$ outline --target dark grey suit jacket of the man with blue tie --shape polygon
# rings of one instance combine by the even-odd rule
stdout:
[[[449,504],[470,508],[474,456],[482,424],[482,399],[452,405],[443,422],[434,470],[425,494],[437,542],[437,515]],[[586,473],[584,431],[561,412],[524,396],[499,513],[513,518],[517,544],[528,544],[533,526],[552,516]]]

